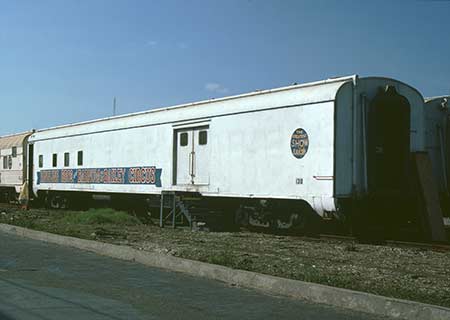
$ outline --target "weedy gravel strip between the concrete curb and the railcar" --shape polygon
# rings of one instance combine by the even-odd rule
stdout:
[[[450,307],[450,252],[248,231],[76,224],[67,217],[78,213],[70,211],[22,211],[12,206],[1,207],[0,211],[0,223]]]

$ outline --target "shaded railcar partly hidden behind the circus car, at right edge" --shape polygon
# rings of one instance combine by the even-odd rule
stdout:
[[[425,99],[426,144],[442,209],[450,216],[450,96]]]

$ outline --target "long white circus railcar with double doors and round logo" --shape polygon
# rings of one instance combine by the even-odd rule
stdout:
[[[298,208],[332,217],[407,188],[423,107],[407,84],[350,76],[38,130],[30,185],[54,206],[74,193],[192,193],[291,226]],[[275,208],[290,208],[283,221]]]

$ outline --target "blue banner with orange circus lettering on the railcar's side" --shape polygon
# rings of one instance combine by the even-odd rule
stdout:
[[[149,184],[161,187],[162,169],[156,167],[51,169],[37,172],[37,184]]]

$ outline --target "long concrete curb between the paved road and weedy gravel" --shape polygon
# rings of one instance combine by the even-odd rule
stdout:
[[[362,311],[397,319],[450,319],[450,309],[448,308],[408,300],[388,298],[370,293],[279,278],[255,272],[235,270],[219,265],[182,259],[164,254],[140,251],[126,246],[60,236],[8,224],[0,224],[0,232],[74,247],[117,259],[136,261],[151,267],[187,273],[193,276],[205,277],[229,284],[261,290],[270,294],[304,299],[339,308]]]

